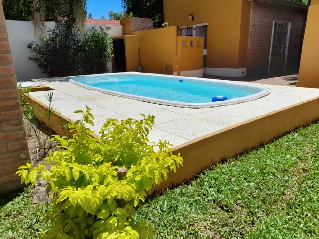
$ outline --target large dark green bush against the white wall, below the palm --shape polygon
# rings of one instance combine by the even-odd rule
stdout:
[[[107,31],[94,27],[83,38],[65,40],[55,30],[41,35],[42,44],[31,42],[28,48],[35,53],[35,61],[43,73],[50,77],[107,73],[112,57],[112,39]]]

